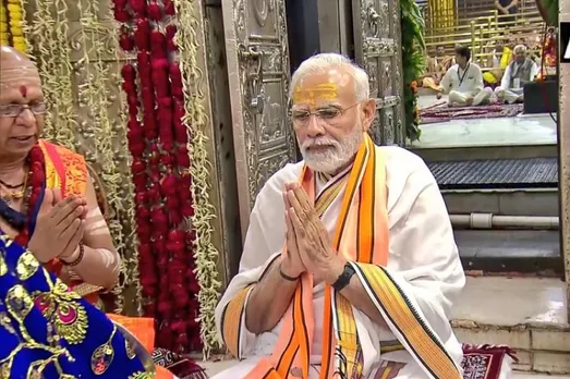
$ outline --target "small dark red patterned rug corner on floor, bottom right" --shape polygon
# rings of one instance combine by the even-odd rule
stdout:
[[[501,370],[510,371],[510,362],[506,359],[518,362],[514,354],[505,345],[463,344],[463,379],[499,379]]]

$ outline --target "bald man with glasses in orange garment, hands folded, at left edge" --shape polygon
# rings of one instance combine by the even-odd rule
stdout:
[[[66,284],[112,289],[121,259],[85,160],[40,138],[45,114],[36,65],[0,46],[0,228]]]

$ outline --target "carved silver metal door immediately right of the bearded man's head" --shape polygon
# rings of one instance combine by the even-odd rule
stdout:
[[[371,97],[377,99],[374,140],[404,145],[400,2],[354,0],[352,11],[356,62],[368,73]]]

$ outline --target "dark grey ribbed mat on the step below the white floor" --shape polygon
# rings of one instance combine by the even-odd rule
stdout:
[[[556,188],[557,158],[429,162],[441,190]]]

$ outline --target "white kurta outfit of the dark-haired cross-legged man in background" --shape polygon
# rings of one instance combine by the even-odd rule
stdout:
[[[469,62],[465,70],[459,64],[453,64],[441,80],[444,93],[449,94],[449,102],[465,105],[468,98],[473,99],[473,105],[478,106],[486,102],[493,91],[483,87],[483,72],[473,62]]]

